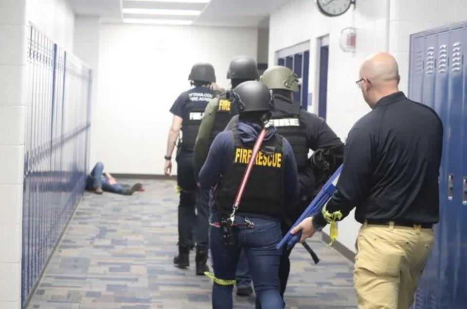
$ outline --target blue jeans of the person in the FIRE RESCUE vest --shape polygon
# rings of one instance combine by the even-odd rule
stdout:
[[[279,262],[282,252],[276,249],[276,244],[281,240],[281,225],[272,218],[249,217],[254,223],[254,228],[246,226],[234,226],[233,232],[238,240],[236,246],[224,243],[222,230],[210,227],[210,248],[213,258],[213,269],[216,278],[225,280],[235,279],[235,270],[243,249],[247,257],[251,277],[253,279],[254,292],[257,303],[261,308],[283,309],[279,293]],[[212,215],[212,221],[218,222],[216,213]],[[235,223],[245,223],[244,214],[237,214]],[[233,308],[232,291],[234,285],[213,284],[213,308]]]

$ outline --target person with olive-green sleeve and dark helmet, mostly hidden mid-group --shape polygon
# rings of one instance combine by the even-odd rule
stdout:
[[[232,88],[240,85],[245,81],[254,81],[259,78],[256,61],[248,56],[236,56],[232,59],[227,78],[231,80]],[[196,138],[194,151],[195,175],[198,175],[199,170],[206,160],[209,148],[214,138],[220,132],[224,131],[225,126],[229,123],[232,116],[238,113],[236,107],[231,104],[227,98],[227,92],[220,93],[206,106],[203,120]],[[209,190],[202,192],[202,202],[208,207]],[[244,253],[238,262],[237,268],[237,295],[248,296],[253,291],[251,289],[251,276],[248,271],[248,264]]]

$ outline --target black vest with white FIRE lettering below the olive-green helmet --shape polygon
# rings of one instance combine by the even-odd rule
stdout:
[[[292,147],[298,167],[309,165],[308,145],[306,142],[305,123],[300,120],[302,108],[298,103],[288,103],[279,99],[274,101],[274,110],[269,123],[276,127],[276,132],[287,139]]]

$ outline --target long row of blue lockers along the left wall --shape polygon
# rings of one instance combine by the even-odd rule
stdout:
[[[90,127],[90,69],[34,26],[28,61],[22,304],[84,190]]]

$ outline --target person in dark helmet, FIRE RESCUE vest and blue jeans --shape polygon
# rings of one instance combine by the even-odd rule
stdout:
[[[199,172],[201,189],[216,186],[210,227],[213,258],[213,308],[233,308],[235,269],[244,250],[257,304],[261,308],[284,308],[279,292],[279,263],[282,252],[275,248],[281,240],[281,215],[299,191],[297,164],[285,138],[274,126],[266,126],[273,98],[269,89],[257,81],[244,82],[230,92],[237,104],[239,121],[229,131],[219,133]],[[253,146],[263,137],[258,154]],[[261,133],[260,133],[261,132]],[[261,140],[261,139],[259,139]],[[250,177],[244,176],[252,160]],[[249,179],[239,190],[244,178]],[[243,195],[242,193],[243,192]],[[237,196],[242,197],[237,209]]]

